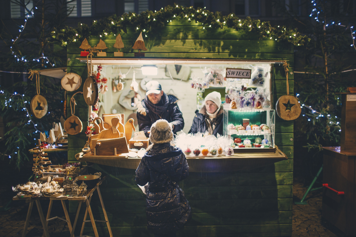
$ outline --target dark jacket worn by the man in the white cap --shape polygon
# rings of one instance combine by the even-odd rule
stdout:
[[[162,96],[162,107],[167,107],[161,114],[156,114],[150,109],[147,108],[147,96],[142,100],[143,109],[138,110],[141,112],[137,112],[137,123],[140,131],[144,131],[146,137],[149,137],[148,131],[150,131],[151,126],[158,119],[166,119],[168,123],[172,123],[174,125],[173,133],[176,134],[178,131],[182,130],[184,127],[183,114],[180,112],[179,107],[177,105],[177,97],[173,95],[166,95],[163,93]],[[141,107],[141,104],[139,105]],[[146,115],[144,115],[146,113]]]

